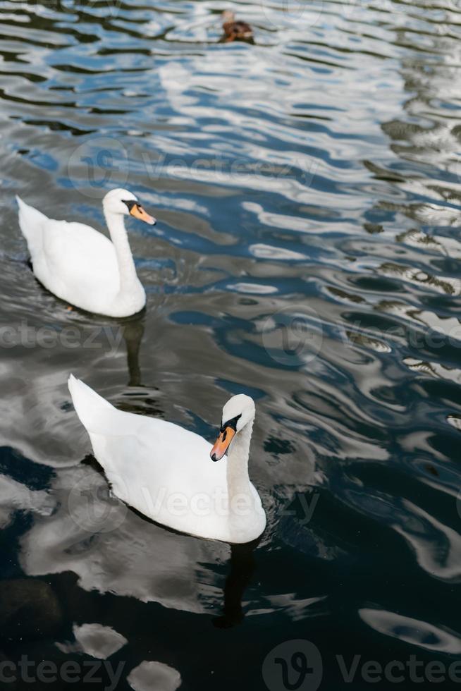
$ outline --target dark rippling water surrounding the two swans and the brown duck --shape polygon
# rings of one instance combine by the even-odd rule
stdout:
[[[219,2],[0,3],[0,661],[51,689],[94,657],[120,690],[455,683],[461,6],[235,6],[254,46],[219,44]],[[130,223],[121,322],[36,283],[14,202],[102,228],[116,186],[159,220]],[[210,440],[250,393],[259,544],[111,499],[69,372]]]

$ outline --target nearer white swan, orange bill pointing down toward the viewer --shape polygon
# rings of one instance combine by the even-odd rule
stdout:
[[[197,537],[242,543],[263,532],[266,514],[248,477],[255,412],[250,396],[228,400],[211,447],[172,422],[113,408],[73,375],[68,385],[94,456],[119,499]],[[211,463],[210,456],[221,463]]]

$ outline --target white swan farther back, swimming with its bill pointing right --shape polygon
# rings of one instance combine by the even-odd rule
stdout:
[[[123,216],[153,226],[128,190],[111,190],[102,201],[111,240],[90,226],[48,219],[19,197],[19,226],[27,240],[35,276],[51,293],[87,312],[129,317],[146,304],[137,278]]]

